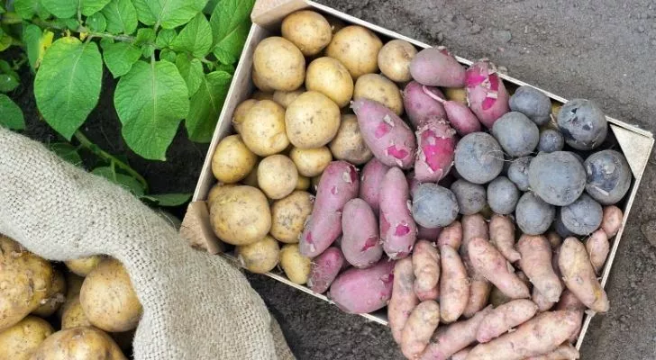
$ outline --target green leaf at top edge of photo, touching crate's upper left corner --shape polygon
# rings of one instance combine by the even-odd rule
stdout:
[[[237,62],[251,29],[255,0],[220,0],[210,17],[214,56],[223,64]]]

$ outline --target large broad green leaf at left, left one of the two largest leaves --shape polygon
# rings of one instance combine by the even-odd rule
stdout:
[[[95,42],[61,38],[46,50],[34,79],[34,96],[52,129],[70,140],[98,103],[103,59]]]

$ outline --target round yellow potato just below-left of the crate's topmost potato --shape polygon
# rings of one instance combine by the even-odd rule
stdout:
[[[260,41],[253,52],[253,68],[262,90],[292,91],[305,80],[303,53],[294,43],[279,36]]]

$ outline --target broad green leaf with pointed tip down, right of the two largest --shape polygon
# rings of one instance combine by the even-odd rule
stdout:
[[[114,107],[128,146],[141,157],[166,160],[166,150],[189,112],[187,85],[169,61],[137,61],[116,85]]]

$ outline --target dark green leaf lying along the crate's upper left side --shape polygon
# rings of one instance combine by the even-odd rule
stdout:
[[[194,106],[189,109],[185,121],[189,139],[196,142],[212,140],[231,80],[232,75],[225,71],[213,71],[203,77],[198,91],[191,97]]]

